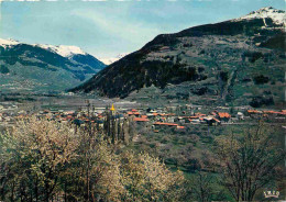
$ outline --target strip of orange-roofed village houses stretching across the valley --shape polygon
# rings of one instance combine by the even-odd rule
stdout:
[[[169,113],[168,110],[162,109],[131,109],[131,110],[117,110],[114,105],[110,109],[98,109],[98,110],[77,110],[77,111],[63,111],[63,110],[44,110],[37,113],[29,113],[20,111],[18,113],[9,113],[0,111],[0,122],[11,122],[18,119],[28,119],[30,115],[36,115],[37,117],[45,117],[48,120],[55,120],[58,122],[72,122],[78,125],[85,123],[97,123],[103,125],[103,121],[107,119],[107,111],[111,112],[112,117],[117,120],[129,119],[138,124],[151,125],[155,131],[165,127],[175,127],[177,130],[184,130],[188,124],[208,124],[219,125],[226,123],[232,123],[234,120],[244,120],[249,117],[276,117],[286,116],[286,110],[282,111],[258,111],[248,110],[244,113],[238,112],[235,117],[232,117],[228,112],[221,112],[218,110],[209,113],[190,112],[186,113]],[[183,114],[183,115],[182,115]]]

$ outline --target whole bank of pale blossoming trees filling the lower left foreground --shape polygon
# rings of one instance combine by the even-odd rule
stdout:
[[[74,126],[32,117],[0,135],[1,201],[176,201],[182,172]]]

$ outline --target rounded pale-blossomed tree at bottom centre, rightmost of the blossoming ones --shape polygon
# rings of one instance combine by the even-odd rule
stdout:
[[[184,182],[182,171],[172,172],[147,153],[121,156],[123,183],[131,201],[178,201]],[[125,201],[127,199],[122,199]]]

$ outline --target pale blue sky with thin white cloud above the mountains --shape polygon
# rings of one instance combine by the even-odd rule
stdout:
[[[285,0],[2,1],[0,37],[75,45],[109,58],[140,49],[156,35],[235,19]]]

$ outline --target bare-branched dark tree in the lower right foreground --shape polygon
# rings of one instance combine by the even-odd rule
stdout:
[[[275,178],[275,168],[285,157],[262,123],[241,135],[220,136],[216,144],[224,186],[237,201],[253,201],[256,191]]]

